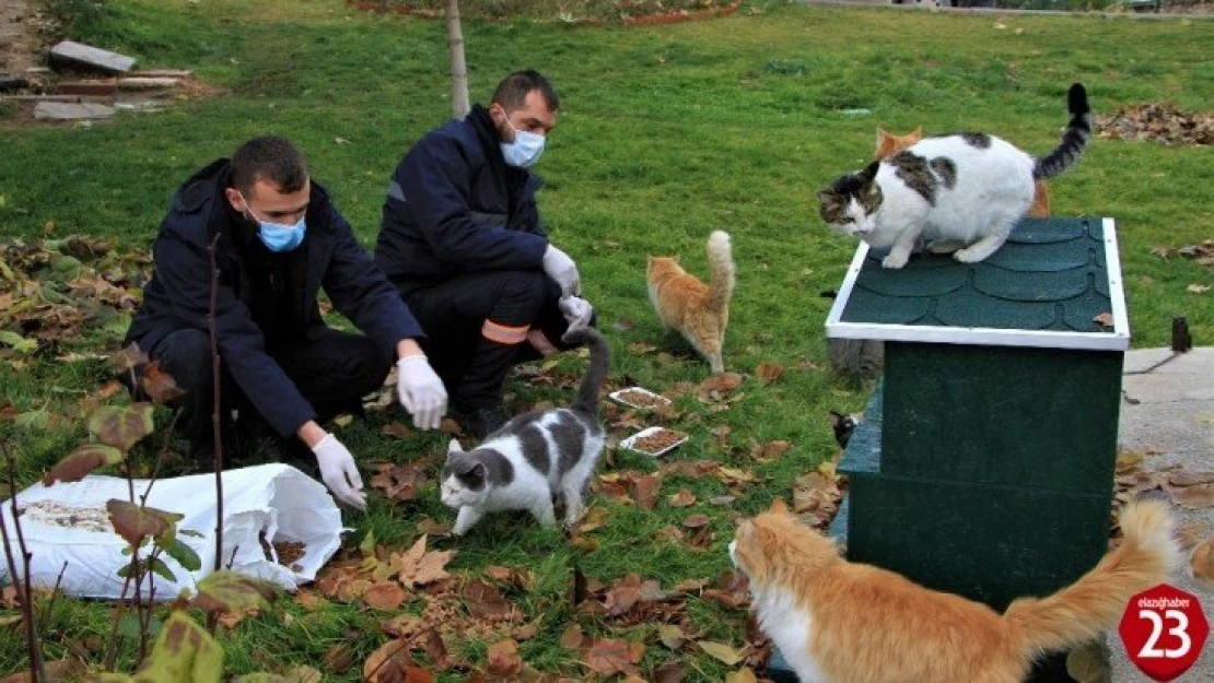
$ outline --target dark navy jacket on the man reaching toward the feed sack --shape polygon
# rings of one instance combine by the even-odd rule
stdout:
[[[240,230],[251,233],[256,228],[225,198],[228,176],[228,160],[220,159],[177,189],[152,247],[155,271],[125,343],[138,342],[151,353],[176,330],[209,330],[209,249],[211,239],[222,233],[216,254],[220,355],[257,411],[280,434],[289,436],[316,412],[268,355],[265,335],[250,314],[253,255],[244,246],[250,240],[242,239],[248,235]],[[290,313],[293,329],[306,331],[324,324],[317,304],[323,286],[334,307],[384,347],[385,359],[395,357],[401,340],[424,336],[399,294],[354,240],[350,223],[334,209],[329,194],[314,182],[306,221],[307,233],[297,247],[306,254],[305,275]]]

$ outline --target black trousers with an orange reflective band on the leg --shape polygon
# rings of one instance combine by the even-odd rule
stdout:
[[[511,365],[571,348],[561,341],[568,330],[557,308],[561,289],[543,271],[469,273],[401,289],[455,410],[500,405]]]

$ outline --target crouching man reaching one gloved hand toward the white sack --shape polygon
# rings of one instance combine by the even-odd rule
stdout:
[[[246,142],[174,195],[153,246],[152,281],[126,336],[185,389],[175,399],[177,428],[199,456],[214,453],[212,243],[222,412],[236,408],[242,423],[263,420],[289,444],[307,445],[329,490],[364,507],[352,455],[320,423],[361,411],[361,398],[382,386],[395,358],[398,395],[414,425],[438,427],[447,392],[419,346],[421,328],[324,188],[311,182],[299,150],[278,137]],[[322,286],[367,336],[324,324]]]

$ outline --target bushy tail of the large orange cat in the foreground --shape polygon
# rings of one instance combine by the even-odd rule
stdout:
[[[1021,598],[1003,619],[1017,649],[1028,656],[1065,649],[1117,625],[1134,593],[1168,579],[1180,562],[1175,519],[1159,501],[1136,501],[1121,518],[1125,539],[1078,581],[1046,598]]]

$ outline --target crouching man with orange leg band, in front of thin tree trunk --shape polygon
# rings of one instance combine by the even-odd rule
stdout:
[[[476,437],[506,420],[511,364],[567,349],[568,328],[594,324],[577,264],[540,227],[529,171],[558,107],[544,76],[510,74],[489,107],[418,141],[388,182],[375,261],[426,331],[452,415]]]

